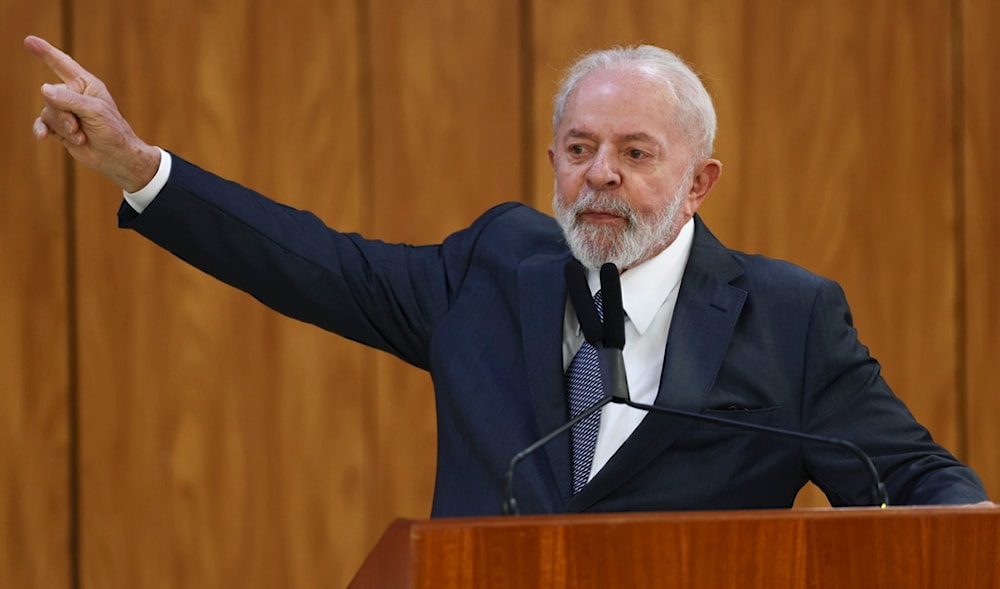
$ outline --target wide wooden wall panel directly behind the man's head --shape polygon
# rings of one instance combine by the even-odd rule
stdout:
[[[551,139],[554,64],[640,42],[689,60],[720,118],[709,226],[730,247],[838,280],[889,382],[954,446],[949,5],[545,2],[533,20],[536,147]],[[536,186],[546,206],[551,180]]]

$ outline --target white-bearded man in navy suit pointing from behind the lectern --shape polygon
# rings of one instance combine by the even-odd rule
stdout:
[[[333,231],[144,143],[98,79],[41,39],[25,45],[63,80],[43,86],[36,137],[126,191],[123,227],[430,371],[435,516],[496,513],[510,458],[580,412],[589,352],[563,278],[574,257],[591,292],[602,264],[621,270],[634,400],[852,441],[892,504],[986,500],[881,379],[835,283],[728,250],[696,215],[721,173],[715,114],[667,51],[598,52],[568,73],[549,149],[557,220],[511,203],[413,248]],[[871,502],[862,465],[824,445],[622,405],[589,427],[521,463],[522,511],[787,507],[807,480],[834,505]]]

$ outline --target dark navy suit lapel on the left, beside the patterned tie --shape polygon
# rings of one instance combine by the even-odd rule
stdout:
[[[569,254],[535,256],[518,268],[524,364],[541,435],[569,419],[561,345],[566,311],[563,267],[569,259]],[[572,494],[569,434],[552,440],[545,452],[559,493],[567,501]]]

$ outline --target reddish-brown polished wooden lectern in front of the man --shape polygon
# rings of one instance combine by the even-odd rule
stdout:
[[[1000,589],[1000,509],[399,520],[351,589]]]

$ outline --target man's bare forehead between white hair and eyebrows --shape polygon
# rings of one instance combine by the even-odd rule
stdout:
[[[557,137],[650,135],[674,139],[674,104],[662,81],[635,70],[601,71],[580,81],[566,101]]]

